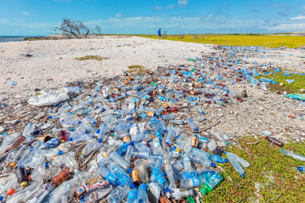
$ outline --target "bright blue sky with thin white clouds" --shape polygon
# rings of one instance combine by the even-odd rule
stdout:
[[[63,18],[104,33],[274,33],[305,30],[305,1],[2,0],[0,36],[49,35]]]

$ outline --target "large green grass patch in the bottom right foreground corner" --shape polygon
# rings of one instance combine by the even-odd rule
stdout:
[[[281,196],[271,202],[302,202],[305,199],[305,174],[296,169],[304,163],[280,152],[280,149],[288,149],[304,155],[304,144],[290,143],[280,148],[260,139],[255,145],[247,145],[256,142],[253,137],[239,140],[239,147],[255,156],[235,146],[226,149],[250,163],[249,168],[244,168],[246,177],[241,178],[230,163],[222,164],[224,180],[215,190],[204,195],[203,202],[239,202],[241,199],[240,202],[257,202],[257,199],[265,202],[278,195]]]

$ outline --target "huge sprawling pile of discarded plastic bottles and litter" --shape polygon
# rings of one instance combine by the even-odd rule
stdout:
[[[223,179],[217,165],[230,162],[247,176],[243,168],[249,162],[224,152],[232,143],[228,134],[213,128],[218,123],[201,124],[203,104],[225,108],[247,97],[246,91],[231,90],[235,84],[264,89],[272,83],[257,80],[255,68],[239,67],[234,55],[211,53],[193,59],[192,67],[164,66],[137,76],[123,71],[103,81],[36,92],[27,101],[38,110],[35,121],[22,133],[2,134],[1,201],[199,202]],[[201,136],[203,131],[209,136]],[[262,135],[283,146],[271,132]]]

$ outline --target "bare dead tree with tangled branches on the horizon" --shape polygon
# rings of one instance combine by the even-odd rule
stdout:
[[[59,27],[51,27],[51,32],[61,31],[63,33],[70,33],[77,39],[87,38],[90,30],[84,25],[82,21],[73,21],[68,18],[64,18],[62,24]]]

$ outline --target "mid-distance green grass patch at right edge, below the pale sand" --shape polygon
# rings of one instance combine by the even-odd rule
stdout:
[[[276,75],[268,75],[268,76],[257,76],[256,78],[259,80],[261,77],[274,79],[278,83],[284,83],[284,86],[280,86],[279,84],[269,84],[271,91],[286,91],[287,93],[302,93],[300,91],[301,88],[305,88],[305,76],[291,74],[291,76],[282,76],[283,72],[277,72]],[[286,80],[294,80],[294,83],[288,83]]]

